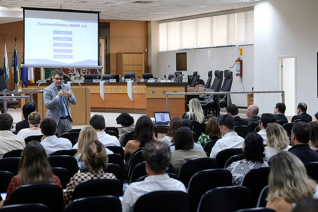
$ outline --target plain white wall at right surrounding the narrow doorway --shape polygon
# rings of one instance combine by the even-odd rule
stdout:
[[[317,8],[318,0],[263,0],[254,5],[255,90],[278,90],[278,57],[296,56],[296,102],[307,103],[312,116],[318,110]],[[278,95],[254,96],[260,113],[272,113],[276,102]]]

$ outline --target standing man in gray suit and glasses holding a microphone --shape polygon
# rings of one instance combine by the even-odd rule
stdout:
[[[43,98],[48,109],[46,118],[53,118],[57,123],[57,133],[60,136],[72,129],[72,116],[70,103],[75,105],[77,100],[67,84],[62,84],[63,72],[53,73],[53,83],[44,89]]]

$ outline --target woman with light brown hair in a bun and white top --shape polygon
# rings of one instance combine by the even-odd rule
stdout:
[[[38,112],[32,112],[28,116],[29,128],[22,129],[18,132],[17,136],[25,139],[29,136],[40,136],[41,133],[41,117]]]

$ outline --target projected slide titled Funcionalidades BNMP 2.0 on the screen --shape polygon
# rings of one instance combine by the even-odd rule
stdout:
[[[27,67],[98,67],[98,14],[24,10]]]

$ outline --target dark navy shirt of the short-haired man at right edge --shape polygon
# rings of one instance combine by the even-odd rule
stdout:
[[[294,153],[303,163],[318,162],[318,153],[306,143],[294,145],[288,151]]]

